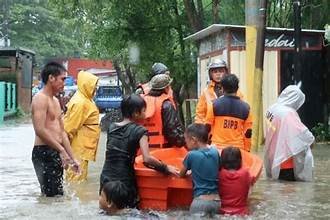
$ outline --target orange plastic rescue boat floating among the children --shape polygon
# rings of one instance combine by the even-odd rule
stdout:
[[[221,149],[219,149],[221,150]],[[150,152],[164,163],[182,168],[182,161],[187,154],[182,148],[163,148]],[[249,168],[250,174],[257,180],[263,166],[263,161],[256,155],[241,150],[243,167]],[[141,209],[168,210],[173,208],[187,208],[192,202],[192,180],[186,178],[166,176],[143,165],[142,156],[136,157],[135,174],[140,195]]]

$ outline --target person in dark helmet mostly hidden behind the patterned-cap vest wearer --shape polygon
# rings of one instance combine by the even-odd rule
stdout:
[[[165,64],[163,63],[154,63],[151,67],[151,77],[154,77],[156,75],[159,74],[167,74],[170,75],[170,71],[168,70],[167,66],[165,66]],[[144,84],[139,84],[137,86],[137,89],[135,91],[135,94],[141,95],[141,94],[148,94],[151,90],[151,84],[150,81],[146,82]],[[174,107],[176,108],[176,103],[174,101],[174,96],[173,96],[173,90],[171,88],[171,86],[169,87],[169,91],[168,91],[168,95],[170,96],[170,100],[171,102],[174,104]]]

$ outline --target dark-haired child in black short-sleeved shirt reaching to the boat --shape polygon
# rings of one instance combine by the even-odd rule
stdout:
[[[177,175],[177,170],[149,154],[148,131],[136,123],[136,121],[143,119],[145,116],[146,102],[139,95],[133,94],[123,99],[120,108],[124,118],[123,121],[111,124],[108,130],[105,161],[100,177],[100,195],[102,191],[106,193],[103,187],[107,182],[120,181],[126,187],[119,187],[121,189],[120,193],[115,191],[110,196],[110,200],[113,200],[114,195],[127,193],[128,196],[126,195],[126,199],[121,201],[117,208],[136,208],[138,207],[139,199],[134,162],[139,148],[143,162],[148,167],[165,174],[173,173]],[[99,204],[100,208],[108,213],[109,210],[112,210],[108,207],[109,202],[105,202],[102,196]]]

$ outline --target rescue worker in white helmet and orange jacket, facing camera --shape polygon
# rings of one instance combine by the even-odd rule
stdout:
[[[220,80],[228,74],[227,64],[222,59],[216,59],[208,67],[210,82],[202,91],[197,106],[195,123],[205,123],[207,109],[212,106],[212,102],[223,95]],[[238,91],[237,96],[243,99],[243,94]]]

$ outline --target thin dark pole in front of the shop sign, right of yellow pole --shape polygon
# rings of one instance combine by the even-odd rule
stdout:
[[[293,1],[294,13],[294,83],[301,81],[301,4],[300,0]]]

